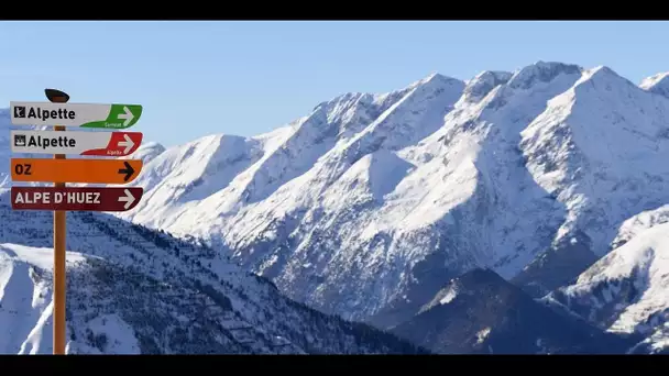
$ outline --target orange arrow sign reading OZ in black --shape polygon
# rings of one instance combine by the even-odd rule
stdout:
[[[12,158],[12,180],[127,184],[142,170],[142,159]]]

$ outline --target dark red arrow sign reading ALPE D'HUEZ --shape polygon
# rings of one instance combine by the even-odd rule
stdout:
[[[14,210],[127,211],[142,199],[144,189],[12,187]]]

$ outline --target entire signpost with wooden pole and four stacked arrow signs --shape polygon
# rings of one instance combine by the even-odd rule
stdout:
[[[48,102],[10,102],[14,125],[52,125],[53,131],[11,131],[13,153],[54,154],[53,159],[12,158],[13,181],[53,183],[53,187],[12,187],[13,210],[54,212],[54,354],[65,354],[65,213],[127,211],[144,192],[140,187],[73,188],[66,183],[120,184],[133,181],[141,159],[66,159],[66,155],[127,156],[142,143],[142,133],[116,132],[134,125],[139,104],[68,103],[69,96],[45,90]],[[95,128],[111,132],[64,132]]]

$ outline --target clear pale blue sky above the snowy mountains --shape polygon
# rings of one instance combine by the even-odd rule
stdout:
[[[669,22],[2,22],[0,101],[144,106],[132,131],[166,146],[253,135],[348,91],[434,71],[468,79],[537,60],[669,70]]]

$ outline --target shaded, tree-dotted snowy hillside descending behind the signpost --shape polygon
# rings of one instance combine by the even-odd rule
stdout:
[[[0,201],[0,352],[51,353],[52,214]],[[195,241],[88,212],[68,213],[67,231],[69,353],[416,352],[286,299]]]

